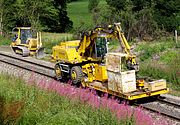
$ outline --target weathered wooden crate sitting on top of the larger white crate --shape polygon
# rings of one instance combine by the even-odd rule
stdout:
[[[125,71],[125,61],[127,54],[124,53],[107,53],[106,54],[106,69],[112,72]]]

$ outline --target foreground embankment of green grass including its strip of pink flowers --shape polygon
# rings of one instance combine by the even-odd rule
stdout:
[[[92,90],[33,79],[0,74],[1,125],[166,125],[165,119],[153,119],[107,95],[99,98]]]

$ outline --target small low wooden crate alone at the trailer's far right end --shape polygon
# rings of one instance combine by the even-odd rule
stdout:
[[[150,91],[157,91],[165,88],[166,88],[166,80],[164,79],[148,82],[148,90]]]

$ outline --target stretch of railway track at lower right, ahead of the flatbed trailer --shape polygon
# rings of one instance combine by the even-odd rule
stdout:
[[[180,102],[160,96],[152,102],[135,103],[149,111],[167,116],[173,120],[180,121]]]

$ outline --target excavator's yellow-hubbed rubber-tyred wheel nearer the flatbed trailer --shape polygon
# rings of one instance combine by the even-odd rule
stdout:
[[[81,82],[82,77],[83,77],[83,72],[80,66],[73,66],[71,68],[71,79],[73,84],[77,84]]]

